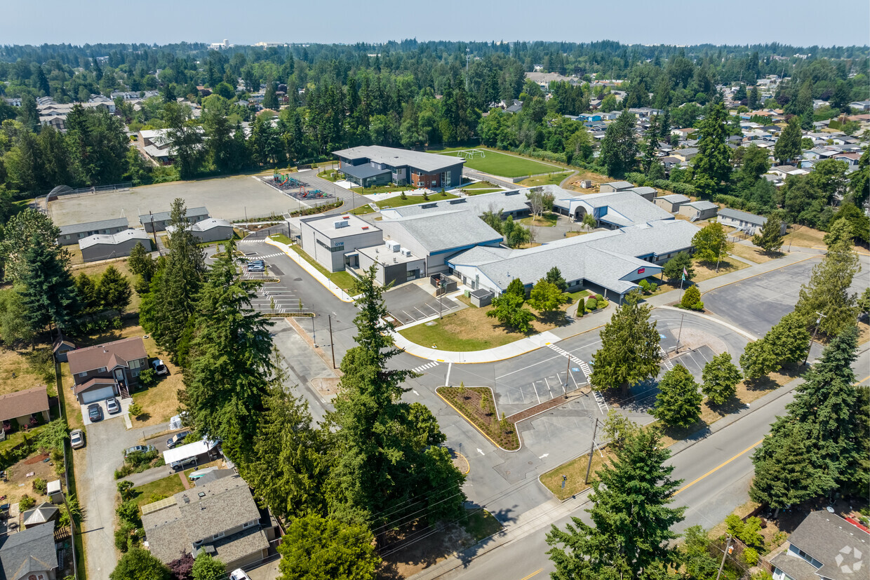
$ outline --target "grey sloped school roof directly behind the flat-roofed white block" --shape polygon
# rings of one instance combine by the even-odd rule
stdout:
[[[473,211],[439,211],[411,217],[383,220],[381,229],[395,237],[395,229],[405,230],[430,254],[478,243],[501,242],[498,231],[481,220]],[[457,232],[462,232],[461,236]]]

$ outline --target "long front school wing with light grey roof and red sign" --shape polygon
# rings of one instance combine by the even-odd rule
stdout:
[[[478,246],[448,260],[453,274],[473,290],[501,295],[514,278],[532,286],[558,266],[568,290],[592,288],[612,299],[658,275],[679,251],[691,252],[698,227],[686,221],[641,223],[621,230],[595,231],[528,250]]]

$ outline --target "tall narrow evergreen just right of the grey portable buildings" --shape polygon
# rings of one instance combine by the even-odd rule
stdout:
[[[170,223],[174,230],[169,237],[169,255],[157,291],[151,292],[155,298],[152,334],[173,362],[183,363],[183,337],[190,331],[205,263],[203,250],[191,234],[183,199],[172,202]]]

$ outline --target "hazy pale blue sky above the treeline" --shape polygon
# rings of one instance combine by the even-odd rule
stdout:
[[[0,43],[611,39],[623,43],[870,43],[870,2],[843,0],[19,0]]]

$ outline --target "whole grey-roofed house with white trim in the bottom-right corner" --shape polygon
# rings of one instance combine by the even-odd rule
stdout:
[[[870,534],[836,514],[811,512],[773,557],[773,580],[857,580],[867,577]]]

